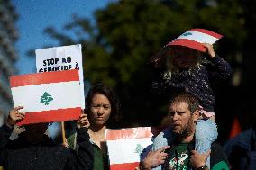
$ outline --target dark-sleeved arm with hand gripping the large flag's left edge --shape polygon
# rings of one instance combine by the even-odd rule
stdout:
[[[15,107],[12,111],[10,111],[5,124],[0,127],[0,165],[3,165],[6,157],[6,145],[8,144],[9,137],[14,131],[14,124],[17,121],[21,121],[24,118],[24,113],[20,112],[23,107]]]

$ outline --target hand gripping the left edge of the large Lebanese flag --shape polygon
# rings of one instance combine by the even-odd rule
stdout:
[[[20,112],[20,110],[23,109],[23,106],[15,107],[13,110],[10,111],[9,116],[6,120],[6,125],[11,127],[14,127],[14,124],[18,121],[22,121],[25,117],[25,114],[23,112]]]

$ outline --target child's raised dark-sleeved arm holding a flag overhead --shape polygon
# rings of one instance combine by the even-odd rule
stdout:
[[[219,57],[215,54],[215,49],[211,44],[203,44],[206,47],[206,53],[209,56],[209,60],[214,64],[214,67],[211,67],[211,76],[219,76],[220,78],[226,79],[232,75],[232,68],[229,63],[224,60],[224,58]]]

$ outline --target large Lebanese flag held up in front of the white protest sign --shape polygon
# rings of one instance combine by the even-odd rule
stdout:
[[[77,120],[81,114],[78,70],[10,77],[14,107],[25,118],[17,125]]]

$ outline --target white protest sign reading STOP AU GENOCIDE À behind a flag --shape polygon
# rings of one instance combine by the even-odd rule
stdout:
[[[36,49],[35,54],[36,69],[39,73],[78,69],[81,92],[81,107],[82,109],[85,109],[84,75],[81,44],[53,47],[48,49]]]

